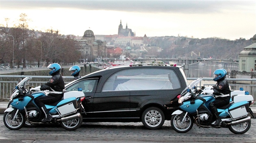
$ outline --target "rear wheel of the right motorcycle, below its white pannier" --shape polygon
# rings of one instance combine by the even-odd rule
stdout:
[[[247,132],[250,127],[251,127],[251,120],[241,124],[229,125],[228,129],[234,134],[243,134]]]

